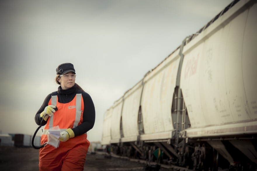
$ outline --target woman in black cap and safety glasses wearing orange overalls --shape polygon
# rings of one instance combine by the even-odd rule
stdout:
[[[61,130],[61,142],[58,148],[46,145],[39,150],[39,170],[83,170],[90,144],[86,132],[95,123],[94,103],[90,95],[75,83],[73,64],[60,64],[56,74],[55,82],[60,84],[58,91],[48,94],[35,121],[40,125],[43,120],[46,125],[41,144],[48,141],[47,131],[54,126]]]

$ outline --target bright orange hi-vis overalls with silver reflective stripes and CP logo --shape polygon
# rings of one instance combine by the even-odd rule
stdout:
[[[69,103],[58,103],[57,92],[53,92],[48,105],[56,105],[58,110],[47,120],[41,136],[41,144],[47,142],[49,128],[59,126],[60,132],[62,132],[80,125],[83,121],[84,101],[81,93],[76,94]],[[89,144],[85,133],[66,142],[60,142],[57,149],[46,145],[39,150],[39,170],[83,171]]]

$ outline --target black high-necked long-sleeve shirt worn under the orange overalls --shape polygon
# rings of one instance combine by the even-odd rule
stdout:
[[[72,88],[63,90],[61,86],[58,87],[57,96],[59,103],[69,103],[71,102],[77,94],[77,86],[74,85]],[[83,113],[83,121],[80,125],[75,128],[72,128],[75,136],[82,135],[93,128],[95,124],[95,106],[92,101],[91,96],[85,91],[82,92],[82,97],[84,101],[84,113]],[[44,111],[45,107],[48,106],[48,102],[51,99],[51,94],[46,96],[42,106],[37,111],[35,116],[35,121],[38,125],[40,125],[42,118],[40,117],[41,112]],[[58,107],[58,106],[57,106]],[[46,125],[46,121],[42,121],[42,125]]]

